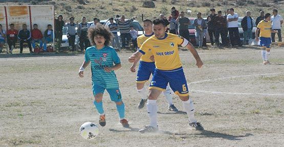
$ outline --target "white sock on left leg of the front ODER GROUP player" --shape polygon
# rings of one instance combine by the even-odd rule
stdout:
[[[147,102],[147,111],[150,118],[150,126],[157,128],[158,122],[157,122],[157,100],[148,100]]]

